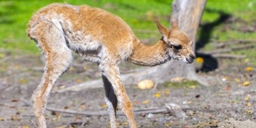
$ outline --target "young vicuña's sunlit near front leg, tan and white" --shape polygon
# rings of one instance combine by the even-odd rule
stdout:
[[[134,121],[132,103],[129,100],[127,92],[122,84],[119,68],[117,64],[100,64],[100,69],[102,70],[102,75],[105,76],[109,82],[112,84],[113,90],[115,91],[116,97],[119,101],[119,106],[127,117],[129,122],[129,127],[136,128],[136,123]],[[110,113],[111,114],[111,113]],[[110,118],[113,118],[110,115]],[[113,119],[110,119],[110,121]],[[110,122],[115,123],[115,122]],[[116,127],[116,124],[111,124],[111,127]]]

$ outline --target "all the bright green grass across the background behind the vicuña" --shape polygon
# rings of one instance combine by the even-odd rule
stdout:
[[[92,0],[92,1],[74,1],[74,0],[46,0],[46,1],[0,1],[0,49],[11,51],[25,52],[26,54],[40,54],[34,42],[27,38],[25,33],[27,22],[34,12],[42,8],[42,6],[53,2],[67,2],[69,4],[81,5],[87,4],[106,9],[113,14],[119,15],[128,25],[134,29],[138,38],[160,38],[160,34],[141,33],[137,29],[146,29],[157,31],[157,27],[153,22],[153,17],[159,17],[160,21],[169,27],[169,17],[171,12],[172,1],[167,0]],[[249,6],[249,3],[252,6]],[[235,17],[244,19],[249,24],[255,21],[254,11],[256,9],[256,1],[254,0],[208,0],[206,11],[204,11],[202,22],[213,22],[219,17],[219,12],[232,14]],[[207,11],[211,10],[211,11]],[[222,32],[222,25],[218,25],[213,29],[212,37],[218,40],[256,38],[253,33],[241,33],[239,31]]]

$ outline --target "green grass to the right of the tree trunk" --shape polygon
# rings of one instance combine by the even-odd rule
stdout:
[[[252,22],[256,21],[255,9],[255,0],[208,0],[201,21],[204,23],[214,22],[219,18],[220,13],[223,13],[230,14],[235,18],[241,18],[243,21],[248,22],[248,25],[250,25]],[[217,37],[216,39],[221,41],[230,39],[256,38],[256,34],[254,33],[242,33],[234,29],[230,31],[221,31],[222,27],[223,24],[215,27],[211,36]],[[233,27],[237,28],[239,27],[239,24],[234,24]]]

